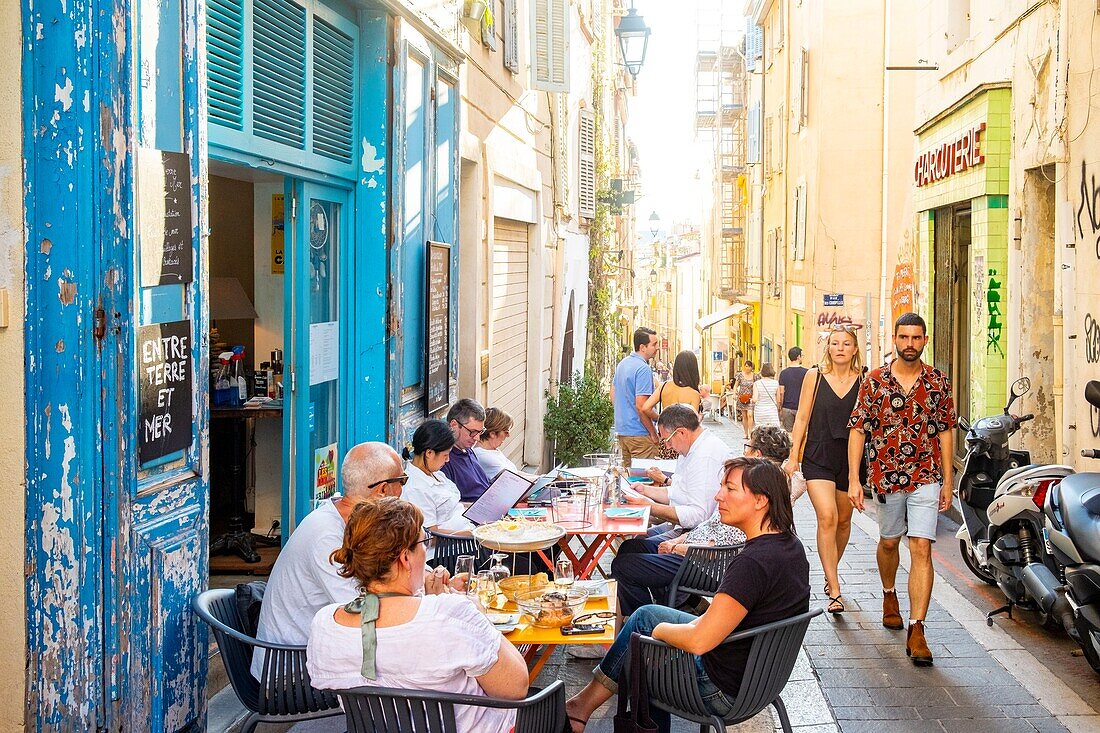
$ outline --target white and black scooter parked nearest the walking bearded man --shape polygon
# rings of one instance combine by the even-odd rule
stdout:
[[[956,537],[970,571],[1000,588],[1008,601],[987,614],[990,625],[999,613],[1008,612],[1011,619],[1014,606],[1043,611],[1024,583],[1026,567],[1047,567],[1053,577],[1060,572],[1044,553],[1043,502],[1050,488],[1074,469],[1033,464],[1027,451],[1009,448],[1009,439],[1035,417],[1009,413],[1012,403],[1030,390],[1031,380],[1023,376],[1012,383],[1001,415],[982,417],[974,425],[960,420],[967,430],[967,453],[958,485],[964,524]]]

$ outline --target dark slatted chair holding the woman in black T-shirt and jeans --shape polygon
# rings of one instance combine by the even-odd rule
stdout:
[[[726,725],[755,718],[761,710],[772,705],[779,714],[783,731],[791,733],[791,721],[787,716],[787,708],[780,693],[794,669],[811,619],[823,612],[824,609],[813,609],[791,619],[735,632],[722,642],[730,644],[752,639],[741,687],[737,691],[733,710],[725,718],[715,715],[703,704],[695,678],[695,655],[636,632],[640,642],[639,655],[646,672],[649,703],[698,723],[701,733],[706,733],[707,729],[723,733]],[[632,659],[630,664],[634,664]]]

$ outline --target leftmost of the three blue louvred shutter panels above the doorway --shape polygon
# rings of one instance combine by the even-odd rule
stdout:
[[[244,0],[207,3],[210,121],[244,129]]]

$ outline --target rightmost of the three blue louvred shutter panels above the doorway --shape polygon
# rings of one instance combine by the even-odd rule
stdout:
[[[314,152],[351,163],[355,42],[314,17]]]

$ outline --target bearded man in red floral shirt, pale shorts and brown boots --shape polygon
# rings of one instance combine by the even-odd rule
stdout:
[[[921,361],[927,326],[915,313],[894,324],[898,359],[873,370],[859,389],[848,420],[848,499],[864,511],[859,466],[864,447],[869,482],[880,502],[878,564],[882,578],[882,625],[903,628],[894,579],[899,546],[909,536],[913,562],[909,573],[910,621],[905,654],[917,666],[932,665],[924,616],[932,599],[932,543],[936,517],[952,505],[955,451],[955,404],[947,375]]]

